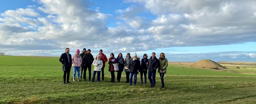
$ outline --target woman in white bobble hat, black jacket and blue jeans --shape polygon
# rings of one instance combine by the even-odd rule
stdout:
[[[130,71],[130,84],[129,84],[129,86],[132,85],[132,83],[133,83],[133,75],[134,75],[134,83],[133,83],[133,85],[134,86],[136,85],[137,74],[139,73],[140,67],[141,67],[140,59],[137,58],[137,54],[134,53],[133,59],[132,59],[132,61],[128,65],[128,70]]]

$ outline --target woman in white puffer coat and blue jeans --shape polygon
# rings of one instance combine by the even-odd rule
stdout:
[[[95,79],[95,75],[97,72],[97,82],[100,82],[100,77],[101,77],[101,68],[103,66],[103,62],[101,60],[101,55],[97,55],[96,59],[92,62],[92,65],[94,66],[93,69],[93,75],[92,75],[92,79],[91,82],[94,82]]]

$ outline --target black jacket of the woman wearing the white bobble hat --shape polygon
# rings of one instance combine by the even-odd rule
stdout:
[[[136,60],[132,60],[129,65],[128,65],[128,69],[130,69],[130,73],[139,73],[138,71],[140,70],[141,65],[140,65],[140,60],[136,59]]]

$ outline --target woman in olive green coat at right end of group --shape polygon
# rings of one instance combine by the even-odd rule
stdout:
[[[163,89],[165,87],[165,83],[164,83],[164,76],[166,73],[166,69],[168,66],[168,61],[165,58],[165,53],[160,53],[160,57],[159,57],[159,68],[158,68],[158,72],[160,74],[160,78],[161,78],[161,83],[162,83],[162,87],[160,89]]]

